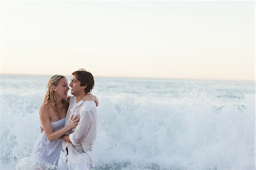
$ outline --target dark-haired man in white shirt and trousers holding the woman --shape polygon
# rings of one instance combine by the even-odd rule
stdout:
[[[62,150],[58,161],[58,167],[64,169],[91,169],[93,164],[92,146],[96,139],[96,103],[94,101],[82,101],[82,97],[89,93],[94,86],[91,73],[85,69],[72,73],[71,97],[65,126],[72,117],[79,117],[80,121],[68,135],[63,135]]]

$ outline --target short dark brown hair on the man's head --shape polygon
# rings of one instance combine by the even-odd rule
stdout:
[[[73,76],[76,76],[77,80],[80,81],[80,86],[87,86],[84,89],[85,93],[92,91],[94,87],[94,78],[90,72],[87,72],[85,69],[79,69],[72,73]]]

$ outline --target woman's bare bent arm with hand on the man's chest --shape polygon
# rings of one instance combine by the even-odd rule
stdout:
[[[50,121],[50,118],[49,118],[48,106],[46,104],[41,106],[40,111],[39,111],[39,115],[40,115],[40,120],[41,120],[41,123],[42,123],[42,127],[44,129],[44,132],[46,133],[46,137],[51,142],[56,140],[56,139],[59,139],[66,132],[68,132],[72,128],[75,128],[77,126],[77,124],[79,123],[79,118],[76,119],[76,117],[72,117],[71,123],[69,123],[69,125],[61,128],[58,131],[53,131],[51,121]]]

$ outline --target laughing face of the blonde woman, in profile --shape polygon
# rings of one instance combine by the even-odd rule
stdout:
[[[54,89],[56,97],[59,96],[60,98],[66,98],[68,96],[68,90],[68,80],[65,77],[60,79]]]

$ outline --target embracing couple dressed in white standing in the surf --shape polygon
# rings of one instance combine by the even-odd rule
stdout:
[[[72,73],[71,94],[67,78],[50,78],[39,115],[43,132],[30,157],[19,160],[16,169],[91,169],[96,139],[97,97],[90,94],[94,78],[84,69]]]

